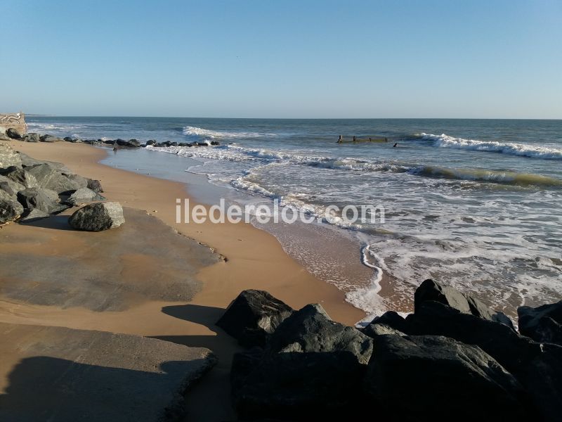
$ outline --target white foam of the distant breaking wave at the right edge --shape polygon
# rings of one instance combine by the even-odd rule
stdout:
[[[452,148],[471,151],[488,151],[493,153],[504,153],[529,158],[542,158],[543,160],[562,160],[562,150],[559,148],[548,148],[546,146],[530,146],[522,143],[503,143],[497,141],[478,141],[475,139],[455,138],[447,134],[425,134],[419,135],[421,139],[433,141],[433,146],[440,148]]]

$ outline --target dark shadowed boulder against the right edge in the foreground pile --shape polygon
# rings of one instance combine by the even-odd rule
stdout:
[[[533,340],[562,345],[562,300],[540,307],[517,309],[519,331]]]

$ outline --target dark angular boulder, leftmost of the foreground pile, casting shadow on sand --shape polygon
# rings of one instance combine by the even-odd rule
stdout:
[[[228,305],[216,325],[244,347],[264,347],[293,309],[263,290],[244,290]]]

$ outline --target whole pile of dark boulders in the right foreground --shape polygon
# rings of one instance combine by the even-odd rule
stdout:
[[[247,347],[231,371],[240,420],[559,421],[562,302],[521,307],[521,332],[433,280],[414,302],[355,328],[242,292],[217,323]]]

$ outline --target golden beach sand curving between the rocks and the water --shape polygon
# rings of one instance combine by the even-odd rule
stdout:
[[[224,258],[215,264],[198,267],[197,274],[190,274],[201,282],[201,288],[189,302],[159,298],[139,301],[138,298],[124,296],[124,306],[120,310],[100,312],[84,306],[22,302],[5,295],[0,300],[0,322],[8,324],[138,334],[213,350],[218,357],[218,365],[187,396],[190,420],[219,421],[235,416],[230,407],[228,373],[232,355],[239,347],[214,323],[241,290],[267,290],[296,309],[308,303],[321,303],[332,319],[344,324],[353,325],[365,316],[364,312],[345,301],[344,293],[303,269],[284,252],[277,239],[265,231],[244,223],[176,224],[176,198],[189,196],[189,186],[185,184],[101,165],[98,162],[105,158],[107,150],[85,144],[13,142],[12,146],[37,160],[63,162],[81,176],[99,179],[105,191],[103,195],[108,200],[119,201],[124,207],[145,210],[180,234],[208,245]],[[195,200],[190,198],[190,206],[195,205]],[[125,224],[133,224],[133,220]],[[9,224],[0,234],[7,241],[17,238],[20,245],[25,245],[26,241],[34,245],[37,256],[65,257],[69,251],[84,247],[79,233],[60,226]],[[146,241],[151,234],[146,233],[145,236],[143,239],[141,235],[137,241]],[[23,252],[25,248],[22,247]],[[166,251],[160,253],[165,254]],[[141,280],[148,271],[145,257],[129,254],[126,259],[133,278],[136,276]],[[152,266],[159,265],[156,259],[151,262]],[[33,257],[30,257],[29,264],[34,264]],[[107,262],[99,257],[98,264],[111,265],[112,261],[109,256]],[[6,369],[1,373],[4,376]],[[4,388],[6,382],[4,376],[0,387]]]

